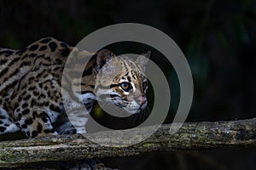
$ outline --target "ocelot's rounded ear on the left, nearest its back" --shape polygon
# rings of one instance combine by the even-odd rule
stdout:
[[[103,65],[105,65],[108,60],[113,59],[115,54],[113,54],[108,49],[102,49],[96,54],[96,70],[99,71]]]

